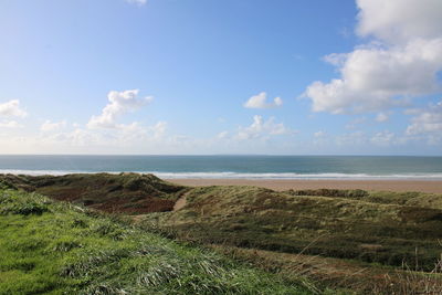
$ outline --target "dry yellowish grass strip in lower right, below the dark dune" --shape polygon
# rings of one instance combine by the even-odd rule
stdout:
[[[349,260],[212,245],[212,249],[252,263],[256,267],[288,280],[315,282],[316,289],[341,289],[343,294],[360,295],[436,295],[442,294],[442,261],[431,272],[403,265],[382,267]]]

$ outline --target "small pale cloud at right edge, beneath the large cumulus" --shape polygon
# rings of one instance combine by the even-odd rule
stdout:
[[[419,115],[411,118],[407,127],[407,135],[436,134],[442,136],[442,102],[438,105],[422,109]]]

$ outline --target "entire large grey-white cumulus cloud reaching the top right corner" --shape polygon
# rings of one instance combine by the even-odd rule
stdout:
[[[359,0],[358,33],[369,44],[325,61],[339,78],[316,81],[305,91],[314,112],[332,114],[382,110],[411,97],[441,91],[442,2],[440,0]],[[427,17],[427,11],[431,11]]]

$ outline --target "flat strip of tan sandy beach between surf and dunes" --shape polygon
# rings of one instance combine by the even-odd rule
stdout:
[[[168,179],[183,186],[256,186],[273,190],[364,189],[442,193],[442,180]]]

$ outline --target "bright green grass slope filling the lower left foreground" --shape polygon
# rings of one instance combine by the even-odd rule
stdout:
[[[0,189],[0,294],[312,294],[109,217]]]

